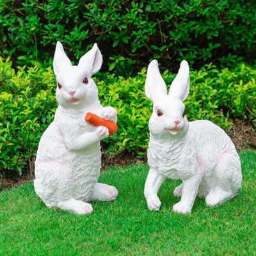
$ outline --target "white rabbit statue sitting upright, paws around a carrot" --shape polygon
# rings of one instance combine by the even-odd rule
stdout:
[[[54,121],[42,135],[35,162],[35,191],[47,207],[87,214],[93,211],[88,202],[115,200],[118,195],[115,187],[97,182],[100,140],[108,137],[108,129],[84,121],[88,112],[117,120],[114,108],[100,105],[92,79],[101,65],[97,44],[81,57],[77,66],[72,66],[57,42],[53,67],[59,106]]]

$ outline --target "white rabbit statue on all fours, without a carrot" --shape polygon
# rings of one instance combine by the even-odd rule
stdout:
[[[189,66],[180,64],[169,93],[156,60],[148,65],[145,93],[153,102],[149,120],[148,172],[144,195],[148,208],[159,210],[157,192],[166,178],[180,179],[174,195],[181,196],[173,211],[190,213],[195,197],[207,205],[221,204],[241,187],[241,163],[234,144],[207,120],[188,122],[182,101],[189,93]]]

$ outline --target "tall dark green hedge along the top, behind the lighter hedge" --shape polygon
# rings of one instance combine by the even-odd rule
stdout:
[[[255,63],[255,17],[256,5],[243,0],[6,0],[0,47],[5,57],[30,65],[48,62],[57,40],[76,58],[97,42],[103,70],[125,77],[152,58],[168,69],[182,59],[193,68],[230,67],[243,58]]]

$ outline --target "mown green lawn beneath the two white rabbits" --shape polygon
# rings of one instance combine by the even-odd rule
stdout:
[[[86,216],[47,209],[33,184],[0,193],[0,255],[255,255],[256,152],[241,152],[243,186],[209,208],[196,198],[190,215],[172,212],[179,181],[166,180],[162,206],[143,196],[147,165],[111,168],[101,182],[118,188],[114,202],[92,202]]]

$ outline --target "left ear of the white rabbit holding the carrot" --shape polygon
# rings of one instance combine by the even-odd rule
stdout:
[[[54,74],[60,73],[60,70],[64,67],[72,66],[71,61],[65,54],[63,46],[60,42],[57,42],[54,57],[53,57],[53,71]]]

